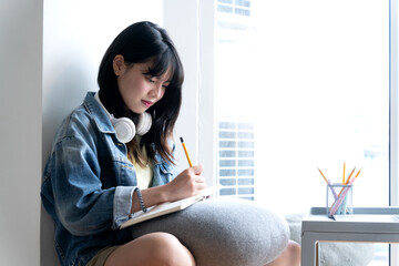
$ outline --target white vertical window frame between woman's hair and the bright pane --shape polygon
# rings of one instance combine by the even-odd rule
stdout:
[[[193,164],[204,165],[207,185],[215,176],[214,0],[164,1],[164,27],[184,65],[183,104],[175,130],[176,157],[187,167],[178,137],[183,136]],[[176,13],[176,10],[184,11]]]

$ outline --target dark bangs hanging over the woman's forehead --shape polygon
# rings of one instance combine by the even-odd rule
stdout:
[[[153,57],[149,70],[144,73],[151,76],[161,76],[171,70],[170,85],[168,86],[181,86],[183,83],[183,70],[180,60],[175,54],[166,49],[165,52]]]

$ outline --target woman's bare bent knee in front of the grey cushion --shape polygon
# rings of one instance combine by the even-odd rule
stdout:
[[[104,266],[194,266],[188,249],[167,233],[151,233],[117,247]]]

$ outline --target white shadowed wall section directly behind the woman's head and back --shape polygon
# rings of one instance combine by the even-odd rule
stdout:
[[[113,39],[136,21],[162,24],[162,0],[44,1],[43,165],[62,120],[88,91],[98,91],[99,65]],[[53,226],[44,212],[41,239],[41,265],[58,265]]]

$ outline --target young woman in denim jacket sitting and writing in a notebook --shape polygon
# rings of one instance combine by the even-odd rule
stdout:
[[[206,187],[201,165],[175,167],[183,76],[172,40],[151,22],[127,27],[105,52],[99,92],[63,121],[43,173],[41,196],[61,265],[196,265],[193,250],[167,231],[135,237],[119,229],[139,211]],[[295,265],[284,259],[299,249],[282,250],[274,265]]]

